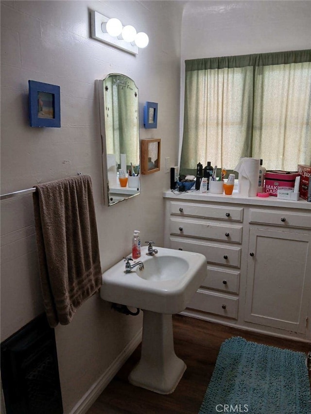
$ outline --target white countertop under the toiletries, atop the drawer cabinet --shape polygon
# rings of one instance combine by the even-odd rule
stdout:
[[[247,205],[258,205],[258,206],[267,206],[267,207],[288,207],[288,208],[297,208],[310,210],[311,212],[311,202],[308,202],[304,199],[299,199],[298,201],[294,200],[283,200],[277,199],[276,197],[270,196],[267,198],[261,197],[245,197],[238,193],[237,190],[234,190],[231,196],[225,194],[211,194],[209,191],[207,193],[200,193],[199,190],[190,190],[188,192],[178,192],[174,190],[167,190],[163,192],[164,198],[174,199],[174,200],[187,200],[187,201],[207,201],[207,202],[221,202],[221,203],[232,203],[232,204],[247,204]]]

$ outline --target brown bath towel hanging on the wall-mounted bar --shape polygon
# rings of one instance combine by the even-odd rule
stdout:
[[[35,230],[50,326],[67,325],[102,284],[91,177],[35,185]]]

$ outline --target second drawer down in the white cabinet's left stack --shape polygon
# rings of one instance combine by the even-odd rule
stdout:
[[[170,233],[204,239],[242,243],[242,226],[211,224],[207,220],[190,221],[170,219]]]

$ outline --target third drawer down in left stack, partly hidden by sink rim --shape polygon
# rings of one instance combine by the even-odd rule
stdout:
[[[207,243],[200,240],[185,240],[177,237],[170,238],[170,247],[202,253],[205,255],[208,263],[231,267],[240,267],[241,264],[240,247],[226,247],[215,243]]]

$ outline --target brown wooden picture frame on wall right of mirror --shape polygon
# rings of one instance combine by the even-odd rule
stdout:
[[[161,166],[161,139],[151,138],[140,141],[141,174],[152,174],[160,171]]]

